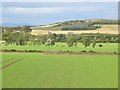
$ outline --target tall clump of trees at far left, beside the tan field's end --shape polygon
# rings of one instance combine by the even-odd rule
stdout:
[[[25,45],[29,41],[31,31],[29,26],[3,27],[2,40],[7,44]]]

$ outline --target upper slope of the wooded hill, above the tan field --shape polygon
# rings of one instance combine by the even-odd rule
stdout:
[[[71,20],[65,22],[59,22],[50,24],[47,26],[31,27],[33,30],[96,30],[100,28],[102,24],[117,24],[117,20],[107,19],[89,19],[89,20]],[[95,26],[95,24],[100,24]]]

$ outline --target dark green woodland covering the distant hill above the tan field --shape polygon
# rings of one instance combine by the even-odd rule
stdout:
[[[61,30],[95,30],[101,26],[94,26],[95,24],[118,24],[118,20],[74,20],[65,21],[56,26],[61,26]]]

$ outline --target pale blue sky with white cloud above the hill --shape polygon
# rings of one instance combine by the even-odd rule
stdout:
[[[48,25],[83,19],[117,19],[117,2],[3,2],[3,26]]]

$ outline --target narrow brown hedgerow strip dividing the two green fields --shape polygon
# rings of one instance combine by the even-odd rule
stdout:
[[[48,55],[120,55],[120,53],[117,52],[73,52],[73,51],[37,51],[37,50],[16,50],[16,51],[11,51],[11,50],[2,50],[0,52],[3,53],[43,53],[43,54],[48,54]]]

